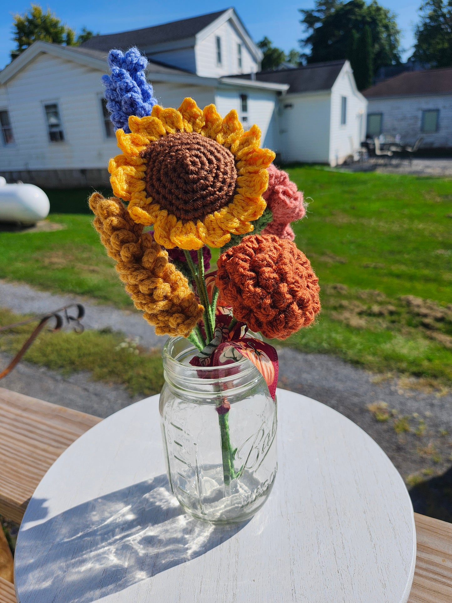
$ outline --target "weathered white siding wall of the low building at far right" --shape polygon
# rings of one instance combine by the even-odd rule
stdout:
[[[439,110],[438,132],[421,132],[422,111]],[[452,95],[406,98],[369,98],[368,113],[383,113],[382,131],[400,134],[401,142],[413,144],[422,136],[422,147],[452,147]]]

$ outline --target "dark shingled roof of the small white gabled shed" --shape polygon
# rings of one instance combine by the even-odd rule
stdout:
[[[256,74],[257,81],[271,81],[278,84],[289,84],[290,92],[315,92],[315,90],[330,90],[344,66],[345,60],[312,63],[295,69],[278,71],[260,71]],[[234,75],[231,77],[251,79],[250,74]]]

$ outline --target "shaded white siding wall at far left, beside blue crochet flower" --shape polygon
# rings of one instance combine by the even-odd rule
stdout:
[[[7,85],[14,146],[0,146],[7,170],[105,168],[118,152],[105,137],[100,99],[101,72],[40,54]],[[49,142],[45,103],[58,103],[64,142]]]

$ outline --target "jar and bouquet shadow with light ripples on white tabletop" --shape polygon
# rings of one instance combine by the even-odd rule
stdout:
[[[20,603],[97,601],[199,557],[245,524],[213,526],[184,514],[159,475],[20,531]]]

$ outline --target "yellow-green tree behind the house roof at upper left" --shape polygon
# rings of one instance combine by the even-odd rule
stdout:
[[[19,56],[37,40],[75,46],[89,40],[92,36],[92,31],[83,27],[81,34],[76,38],[75,31],[63,24],[50,8],[44,12],[39,4],[31,4],[30,10],[24,14],[15,14],[13,17],[13,40],[17,48],[11,51],[11,58]]]

